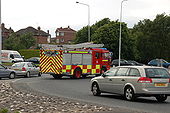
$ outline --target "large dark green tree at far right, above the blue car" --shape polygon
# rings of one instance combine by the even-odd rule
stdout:
[[[157,15],[151,21],[145,19],[133,28],[136,37],[136,48],[142,62],[154,58],[170,60],[170,17],[165,14]]]

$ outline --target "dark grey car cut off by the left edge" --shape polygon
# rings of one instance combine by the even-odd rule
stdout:
[[[0,79],[1,78],[14,79],[15,75],[16,73],[14,70],[8,69],[7,67],[0,64]]]

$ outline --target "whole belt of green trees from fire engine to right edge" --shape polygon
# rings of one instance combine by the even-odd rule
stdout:
[[[113,59],[118,58],[119,47],[118,21],[104,18],[91,26],[91,40],[103,43],[113,52]],[[75,43],[87,42],[87,26],[77,32]],[[154,58],[170,60],[170,16],[159,14],[152,21],[144,19],[132,29],[122,23],[121,58],[147,63]]]

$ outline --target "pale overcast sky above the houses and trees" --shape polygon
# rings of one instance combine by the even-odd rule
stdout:
[[[1,0],[2,23],[14,31],[32,26],[50,30],[70,26],[79,30],[88,24],[87,6],[90,5],[90,24],[103,18],[120,18],[122,0]],[[170,0],[128,0],[123,3],[122,21],[133,27],[139,20],[153,20],[157,14],[170,14]]]

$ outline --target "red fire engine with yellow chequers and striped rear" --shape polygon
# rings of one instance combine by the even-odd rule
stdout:
[[[110,52],[103,48],[41,49],[40,71],[54,78],[100,75],[110,69]]]

